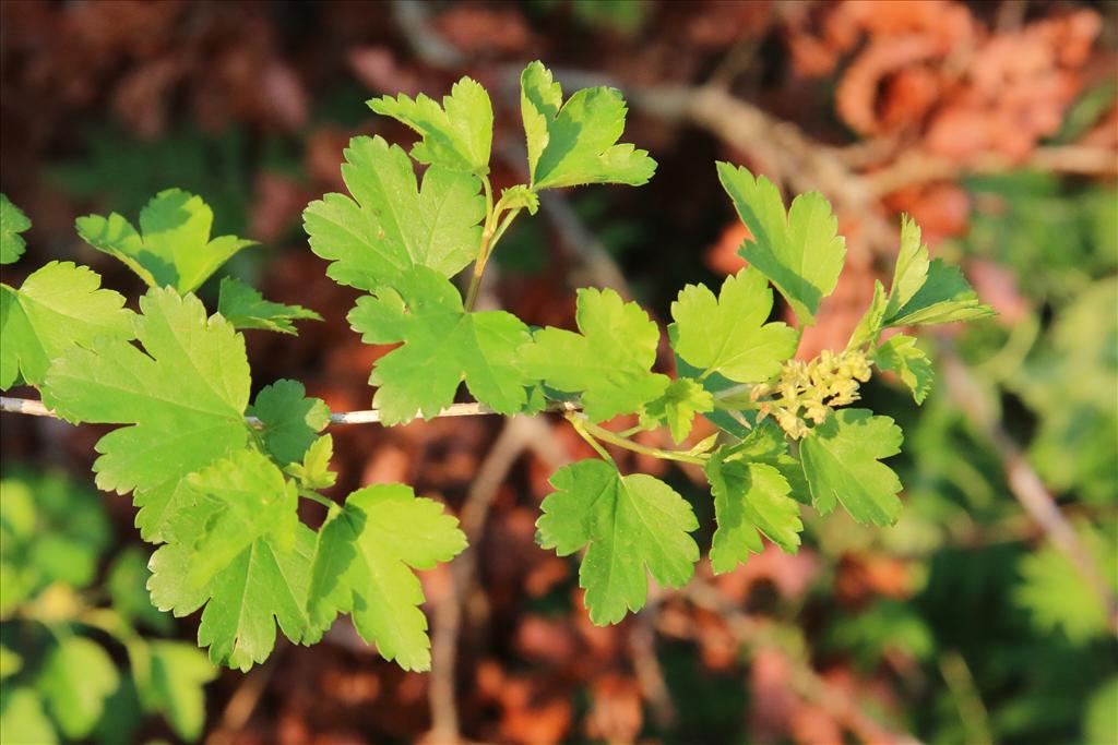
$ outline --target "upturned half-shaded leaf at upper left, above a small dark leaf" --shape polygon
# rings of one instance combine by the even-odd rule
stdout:
[[[124,217],[77,219],[82,239],[115,256],[150,287],[173,287],[184,295],[201,286],[240,249],[256,241],[236,236],[210,239],[214,212],[181,189],[159,192],[140,212],[140,232]]]

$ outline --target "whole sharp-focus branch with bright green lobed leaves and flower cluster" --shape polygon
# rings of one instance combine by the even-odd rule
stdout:
[[[795,552],[805,508],[842,505],[862,523],[897,520],[901,484],[883,459],[899,451],[901,431],[889,417],[844,407],[873,367],[898,374],[918,403],[927,395],[930,361],[912,336],[882,341],[885,329],[991,314],[958,269],[929,260],[913,222],[901,226],[891,287],[879,283],[850,344],[797,361],[799,332],[768,321],[770,285],[800,325],[814,323],[843,266],[837,221],[819,193],[786,208],[769,180],[719,163],[754,236],[740,250],[750,266],[717,295],[689,285],[672,304],[673,378],[654,371],[661,328],[612,289],[578,290],[577,329],[533,329],[505,311],[474,309],[486,262],[513,221],[537,211],[541,191],[652,178],[655,161],[618,144],[626,107],[617,90],[586,88],[565,101],[547,68],[529,65],[521,76],[529,182],[499,197],[489,179],[493,109],[481,85],[463,78],[442,103],[401,95],[369,105],[419,141],[409,154],[381,137],[354,137],[342,165],[349,195],[326,194],[304,213],[328,275],[366,293],[349,314],[352,328],[367,343],[399,345],[371,371],[376,416],[366,418],[392,426],[463,413],[452,408],[463,382],[477,402],[466,412],[562,411],[598,457],[551,477],[538,542],[560,555],[585,552],[579,583],[594,622],[639,610],[648,574],[666,588],[685,584],[700,557],[690,504],[657,478],[620,472],[607,447],[702,467],[716,572],[759,552],[762,536]],[[349,613],[385,658],[426,670],[416,571],[451,561],[465,536],[438,503],[406,485],[364,487],[343,505],[321,494],[334,483],[332,440],[321,433],[331,414],[293,381],[250,401],[241,334],[294,333],[294,321],[318,316],[228,278],[210,314],[193,290],[250,245],[211,238],[211,222],[209,208],[179,190],[152,199],[139,230],[115,213],[79,219],[87,242],[150,286],[139,313],[69,262],[46,265],[18,289],[3,285],[0,385],[37,386],[69,422],[120,426],[96,445],[97,485],[132,493],[141,535],[159,546],[152,602],[176,615],[201,609],[198,641],[215,662],[247,670],[274,648],[276,624],[292,641],[313,643]],[[4,199],[4,262],[22,252],[18,233],[28,227]],[[471,265],[463,297],[452,280]],[[625,414],[638,424],[608,427]],[[694,447],[634,439],[666,428],[681,443],[697,416],[718,433]],[[300,499],[324,509],[319,529],[299,518]]]

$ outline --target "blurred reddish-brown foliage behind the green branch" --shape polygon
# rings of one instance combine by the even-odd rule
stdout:
[[[302,173],[253,173],[248,232],[292,249],[269,255],[259,283],[265,294],[312,307],[325,322],[307,325],[297,338],[250,334],[249,355],[258,380],[297,378],[334,410],[363,409],[370,400],[370,366],[385,350],[361,344],[348,329],[344,315],[354,294],[329,280],[322,261],[292,232],[309,200],[341,188],[338,165],[352,134],[410,135],[375,122],[371,114],[357,126],[315,116],[330,83],[349,80],[353,95],[434,95],[468,73],[495,92],[494,151],[503,153],[504,144],[520,135],[517,98],[500,92],[508,88],[509,71],[524,60],[540,57],[571,77],[600,77],[636,92],[693,88],[721,77],[741,97],[798,126],[809,142],[833,149],[851,174],[889,171],[888,183],[896,184],[874,194],[866,212],[843,211],[840,203],[852,246],[850,266],[821,313],[825,321],[805,335],[802,354],[812,356],[845,343],[873,280],[884,274],[869,238],[871,214],[885,216],[892,225],[898,213],[912,214],[934,248],[944,237],[960,235],[972,209],[957,183],[965,168],[991,157],[1027,161],[1059,131],[1084,86],[1112,73],[1112,52],[1097,44],[1102,25],[1096,10],[1033,4],[1024,13],[1013,4],[704,0],[643,7],[634,31],[608,18],[588,21],[567,4],[533,13],[508,3],[326,2],[301,9],[295,3],[172,0],[6,2],[0,35],[4,191],[27,206],[37,226],[61,226],[58,233],[83,210],[112,209],[67,201],[39,179],[48,163],[77,147],[75,123],[106,111],[139,140],[157,137],[181,121],[206,132],[236,124],[253,137],[290,139],[301,153]],[[834,88],[833,113],[842,126],[824,111],[828,104],[819,90],[825,83]],[[710,161],[717,156],[756,166],[770,155],[766,142],[741,152],[691,124],[664,121],[643,108],[639,96],[633,108],[634,140],[650,143],[662,166],[644,193],[618,197],[618,208],[646,220],[665,246],[705,250],[705,264],[716,274],[736,271],[742,266],[736,250],[747,236],[709,185]],[[1118,149],[1116,116],[1111,108],[1079,144]],[[959,168],[948,175],[902,172],[893,178],[902,155],[913,153]],[[499,163],[498,181],[511,183],[517,168]],[[701,179],[694,175],[700,173]],[[708,185],[697,187],[689,199],[678,198],[681,187],[697,181]],[[510,276],[498,292],[531,323],[561,325],[570,318],[572,297],[556,277],[578,268],[579,247],[559,229],[547,231],[543,240],[553,273]],[[634,269],[629,274],[636,281],[662,281],[663,293],[674,293],[680,284],[674,265],[670,257],[659,258],[659,264],[656,256],[622,262]],[[110,285],[126,281],[107,264],[96,268]],[[979,262],[967,273],[1003,321],[1013,323],[1027,300],[1012,276]],[[459,509],[500,426],[475,419],[339,429],[333,434],[341,478],[333,494],[404,480]],[[42,443],[54,430],[39,427],[13,424],[6,429],[6,442],[26,436],[47,448]],[[694,437],[708,433],[699,428]],[[88,465],[96,434],[68,431],[68,458]],[[588,455],[566,428],[556,426],[550,437],[566,458]],[[663,468],[618,460],[623,467]],[[891,685],[902,661],[866,671],[842,657],[797,657],[767,632],[758,636],[757,628],[767,628],[765,619],[776,615],[775,608],[812,605],[813,592],[853,609],[875,598],[907,598],[913,589],[906,560],[855,550],[821,556],[809,547],[786,555],[770,546],[727,576],[711,577],[709,569],[700,569],[695,583],[721,599],[718,606],[665,596],[639,617],[596,628],[575,588],[575,565],[533,542],[552,468],[525,443],[501,486],[487,495],[484,533],[474,548],[476,577],[463,599],[453,681],[462,733],[503,743],[639,742],[650,720],[670,726],[679,713],[663,703],[664,674],[647,659],[647,650],[633,643],[642,624],[651,624],[662,638],[691,644],[703,675],[718,671],[748,686],[751,704],[738,718],[751,741],[831,744],[852,733],[902,742],[859,713],[863,705],[885,713],[902,706]],[[120,503],[113,509],[126,526],[130,509]],[[453,593],[439,589],[452,581],[426,577],[433,604],[452,602]],[[819,612],[812,605],[793,618],[803,618],[802,632],[811,634]],[[755,646],[747,660],[742,649],[750,640]],[[247,716],[224,708],[246,685],[238,674],[226,674],[211,697],[211,727],[227,742],[292,745],[415,741],[427,730],[428,677],[385,663],[351,629],[335,628],[329,641],[310,650],[282,648],[268,663],[263,697]],[[439,663],[436,658],[436,670]],[[681,732],[692,742],[703,742],[704,734],[710,735],[705,742],[720,742],[718,734]]]

